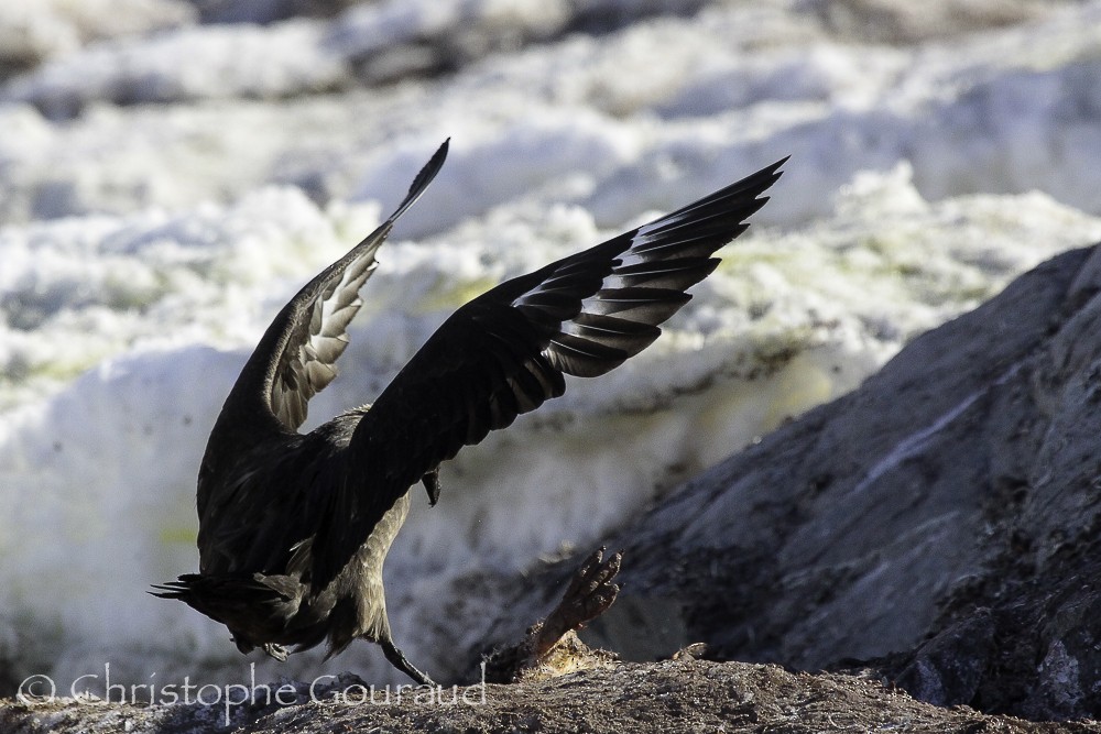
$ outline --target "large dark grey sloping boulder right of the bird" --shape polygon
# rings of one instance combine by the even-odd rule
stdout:
[[[715,659],[1101,717],[1099,292],[1101,251],[1064,253],[688,482],[607,540],[598,626],[652,605]]]

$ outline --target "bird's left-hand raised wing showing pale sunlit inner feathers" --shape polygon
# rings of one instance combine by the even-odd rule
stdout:
[[[375,252],[397,218],[439,173],[447,145],[444,141],[421,169],[386,221],[307,283],[279,313],[226,401],[225,410],[233,420],[257,426],[274,419],[293,431],[306,419],[309,398],[337,374],[335,363],[348,346],[348,324],[362,304],[359,289],[378,265]]]

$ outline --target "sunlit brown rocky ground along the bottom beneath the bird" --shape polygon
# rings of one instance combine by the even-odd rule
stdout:
[[[774,665],[668,660],[623,664],[512,686],[445,689],[439,700],[361,702],[352,679],[333,698],[280,706],[12,703],[11,734],[45,732],[1101,732],[1101,724],[1036,723],[941,708],[861,676],[788,672]],[[349,693],[350,691],[350,693]],[[466,695],[467,702],[462,697]],[[381,699],[377,699],[381,700]]]

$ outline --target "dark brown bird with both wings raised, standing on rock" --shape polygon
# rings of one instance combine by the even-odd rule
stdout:
[[[373,405],[299,434],[336,376],[359,289],[394,222],[424,193],[447,142],[397,210],[283,307],[241,371],[198,476],[199,572],[156,587],[221,622],[237,647],[284,660],[357,637],[419,683],[394,645],[382,563],[417,481],[436,504],[442,461],[653,342],[718,264],[711,255],[780,177],[780,161],[602,244],[506,281],[456,310]]]

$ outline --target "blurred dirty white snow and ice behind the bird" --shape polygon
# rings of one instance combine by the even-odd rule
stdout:
[[[437,507],[414,493],[388,588],[429,671],[457,643],[417,621],[471,569],[588,547],[1101,239],[1099,2],[974,3],[950,32],[869,15],[866,42],[780,0],[334,3],[272,22],[262,4],[264,24],[168,0],[0,11],[0,39],[25,41],[0,58],[0,659],[17,680],[247,668],[222,626],[144,591],[195,569],[199,457],[268,321],[445,138],[309,426],[372,399],[501,278],[792,158],[652,348],[466,449]],[[395,675],[366,644],[327,665],[260,669]]]

